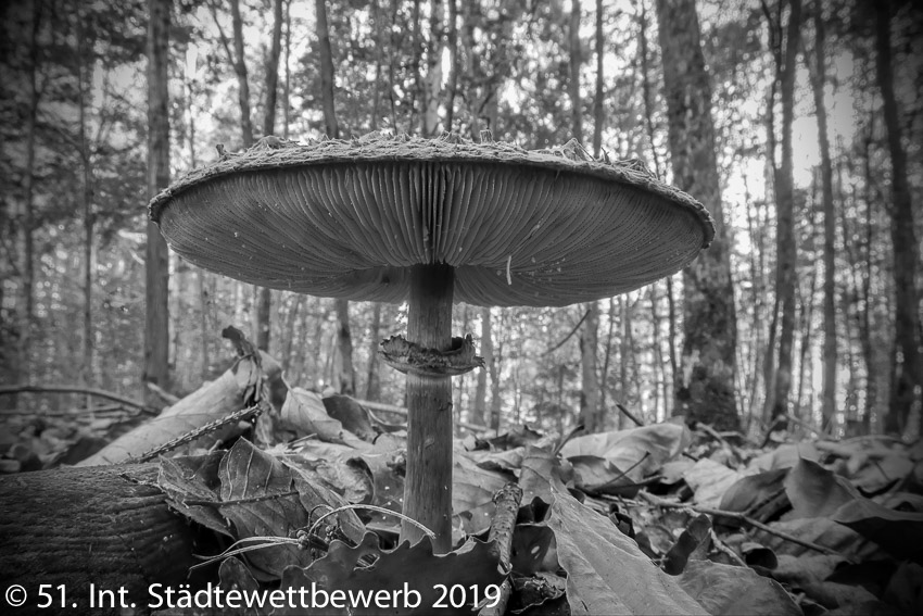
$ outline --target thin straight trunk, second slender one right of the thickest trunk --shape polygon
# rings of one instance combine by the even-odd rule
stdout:
[[[818,114],[818,139],[821,150],[821,189],[824,213],[824,347],[823,347],[823,393],[821,414],[823,428],[832,428],[836,413],[836,212],[833,204],[833,165],[830,161],[830,137],[827,137],[824,85],[826,65],[823,3],[815,2],[814,12],[814,61],[813,79],[814,109]]]

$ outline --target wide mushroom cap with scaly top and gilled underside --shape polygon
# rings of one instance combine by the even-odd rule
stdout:
[[[150,216],[184,259],[246,282],[400,302],[412,265],[446,263],[455,301],[484,306],[637,289],[715,235],[643,166],[455,136],[251,148],[174,183]]]

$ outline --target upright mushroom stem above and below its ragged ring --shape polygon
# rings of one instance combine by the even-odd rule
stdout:
[[[455,268],[410,268],[407,340],[447,351],[452,347]],[[450,377],[407,375],[407,475],[404,514],[435,533],[433,552],[452,549],[452,382]],[[416,543],[422,531],[407,523],[401,540]]]

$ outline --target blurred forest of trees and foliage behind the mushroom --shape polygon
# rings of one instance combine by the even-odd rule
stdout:
[[[147,202],[261,138],[577,139],[690,191],[685,272],[567,309],[459,304],[458,419],[919,433],[923,8],[910,0],[2,3],[0,407],[184,395],[233,324],[288,382],[403,405],[406,306],[253,288],[168,254]],[[150,62],[149,62],[150,59]],[[488,133],[483,133],[488,130]]]

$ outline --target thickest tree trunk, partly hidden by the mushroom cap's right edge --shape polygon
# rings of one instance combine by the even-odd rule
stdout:
[[[657,16],[674,183],[706,204],[716,226],[711,247],[683,269],[684,374],[675,375],[683,381],[673,414],[735,430],[737,324],[698,16],[693,0],[658,0]]]

